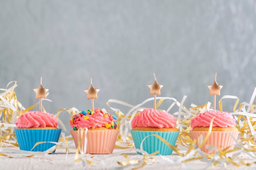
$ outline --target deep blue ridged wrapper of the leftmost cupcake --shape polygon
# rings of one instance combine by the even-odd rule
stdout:
[[[33,148],[34,145],[37,142],[58,142],[61,129],[14,129],[14,132],[17,137],[20,150],[43,152],[53,147],[55,144],[43,143]],[[53,153],[54,152],[55,150]]]

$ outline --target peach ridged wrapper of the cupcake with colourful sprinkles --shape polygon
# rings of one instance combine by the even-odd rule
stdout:
[[[83,146],[85,143],[85,131],[81,138],[81,130],[70,130],[74,139],[76,148],[80,144],[80,150],[84,152]],[[90,154],[110,154],[113,152],[117,140],[119,130],[88,130],[86,133],[87,146],[86,153]]]

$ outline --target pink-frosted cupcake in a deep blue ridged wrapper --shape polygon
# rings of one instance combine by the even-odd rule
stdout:
[[[58,142],[61,129],[58,129],[58,121],[53,115],[41,111],[23,113],[15,122],[14,129],[20,150],[43,152],[55,144],[37,142]],[[32,149],[33,148],[33,149]],[[53,151],[55,152],[55,150]]]

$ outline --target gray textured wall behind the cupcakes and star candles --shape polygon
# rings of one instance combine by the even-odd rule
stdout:
[[[187,107],[213,101],[215,72],[221,96],[249,102],[255,55],[254,0],[0,1],[0,88],[17,80],[28,107],[43,76],[50,113],[91,108],[83,92],[90,78],[101,89],[95,107],[107,108],[108,99],[136,105],[153,97],[153,73],[161,96],[187,95]]]

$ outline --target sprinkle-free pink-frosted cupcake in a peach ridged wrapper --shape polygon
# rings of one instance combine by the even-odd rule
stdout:
[[[229,132],[236,139],[239,132],[238,129],[235,127],[236,120],[231,115],[231,113],[227,112],[212,110],[195,115],[195,117],[193,117],[193,119],[191,120],[192,130],[190,131],[190,134],[192,139],[198,140],[199,135],[202,135],[203,138],[206,137],[212,118],[214,119],[211,135],[207,139],[206,143],[202,146],[201,150],[206,153],[216,152],[210,152],[210,150],[206,148],[207,145],[216,146],[220,150],[223,150],[227,147],[229,147],[228,150],[233,149],[236,142],[229,134],[225,132]],[[200,145],[198,144],[198,141],[196,145]]]

